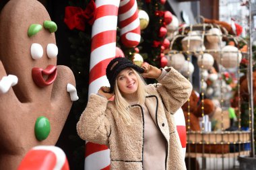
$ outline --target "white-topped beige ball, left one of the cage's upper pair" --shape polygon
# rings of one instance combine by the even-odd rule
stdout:
[[[181,40],[183,50],[198,50],[200,46],[202,46],[201,36],[197,34],[197,32],[189,32],[183,40]]]

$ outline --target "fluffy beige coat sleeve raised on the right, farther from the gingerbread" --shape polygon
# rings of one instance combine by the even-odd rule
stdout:
[[[172,67],[163,70],[155,87],[168,112],[174,114],[189,99],[191,83]]]

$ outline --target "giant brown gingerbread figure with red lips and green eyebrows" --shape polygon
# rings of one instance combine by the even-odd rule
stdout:
[[[0,80],[15,75],[18,83],[0,93],[0,169],[17,169],[34,146],[55,145],[78,99],[72,71],[57,66],[56,30],[36,0],[11,0],[1,10]],[[36,125],[42,116],[47,127]]]

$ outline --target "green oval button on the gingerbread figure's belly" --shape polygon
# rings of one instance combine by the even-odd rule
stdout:
[[[51,131],[50,122],[44,116],[40,116],[36,119],[36,124],[34,126],[34,133],[36,135],[36,139],[41,141],[46,139]]]

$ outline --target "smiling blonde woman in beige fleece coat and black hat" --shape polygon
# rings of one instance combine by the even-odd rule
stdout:
[[[139,73],[159,83],[146,85]],[[110,87],[90,95],[77,134],[108,145],[111,169],[186,169],[173,114],[189,99],[191,83],[173,68],[137,67],[121,57],[110,61],[106,77]]]

